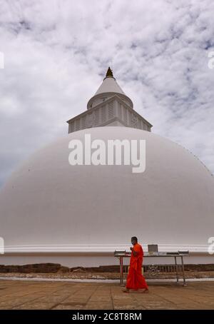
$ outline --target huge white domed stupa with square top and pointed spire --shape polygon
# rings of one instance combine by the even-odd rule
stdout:
[[[160,251],[189,250],[188,263],[213,263],[214,179],[208,169],[182,146],[151,133],[111,69],[87,108],[68,121],[67,136],[36,151],[1,189],[0,264],[117,264],[113,251],[129,249],[131,236],[145,250],[155,243]],[[85,134],[105,143],[146,140],[146,170],[71,166],[68,144],[84,141]]]

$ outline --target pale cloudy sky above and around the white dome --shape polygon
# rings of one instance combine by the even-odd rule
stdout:
[[[66,136],[108,65],[153,132],[214,173],[213,17],[213,0],[0,0],[0,186]]]

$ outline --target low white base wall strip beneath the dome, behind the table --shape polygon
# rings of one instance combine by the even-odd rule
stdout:
[[[128,265],[130,258],[123,258],[123,264]],[[180,263],[180,258],[177,258]],[[174,258],[143,259],[143,264],[174,264]],[[99,265],[118,265],[119,260],[113,256],[91,255],[0,255],[0,265],[25,265],[33,263],[60,263],[70,268],[76,266],[96,267]],[[184,257],[185,264],[214,264],[214,255],[190,255]]]

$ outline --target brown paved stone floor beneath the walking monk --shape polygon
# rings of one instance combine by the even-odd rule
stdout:
[[[0,280],[0,309],[214,309],[214,281],[149,288],[127,294],[118,283]]]

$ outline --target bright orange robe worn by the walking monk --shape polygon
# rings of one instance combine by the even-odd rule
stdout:
[[[142,275],[142,265],[143,265],[143,248],[141,244],[136,243],[133,245],[133,249],[138,253],[136,256],[133,255],[131,251],[130,267],[128,271],[128,276],[126,279],[126,288],[128,289],[148,289],[145,278]]]

